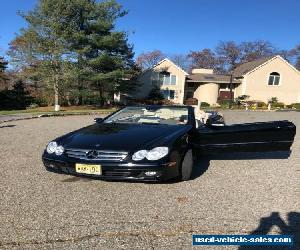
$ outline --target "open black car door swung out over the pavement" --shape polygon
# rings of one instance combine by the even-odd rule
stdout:
[[[191,136],[201,154],[290,151],[296,126],[289,121],[203,125]]]

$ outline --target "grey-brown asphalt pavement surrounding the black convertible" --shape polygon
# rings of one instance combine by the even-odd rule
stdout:
[[[300,128],[299,112],[224,115],[227,123],[288,119]],[[188,182],[108,182],[46,172],[41,154],[47,142],[93,118],[0,124],[0,249],[189,249],[192,234],[299,239],[300,133],[288,159],[210,160]]]

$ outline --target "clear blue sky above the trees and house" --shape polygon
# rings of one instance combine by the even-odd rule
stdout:
[[[25,22],[16,12],[36,0],[1,1],[0,55]],[[129,14],[117,28],[129,33],[136,54],[213,48],[220,40],[269,40],[281,49],[300,44],[299,0],[119,0]]]

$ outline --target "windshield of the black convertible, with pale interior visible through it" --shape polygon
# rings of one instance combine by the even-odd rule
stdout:
[[[186,107],[127,107],[104,120],[104,123],[184,125],[187,121]]]

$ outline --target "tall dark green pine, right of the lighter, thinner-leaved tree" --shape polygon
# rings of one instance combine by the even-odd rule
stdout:
[[[116,20],[126,12],[115,1],[78,0],[76,4],[76,32],[71,34],[68,44],[76,52],[79,93],[89,86],[85,84],[89,81],[103,104],[104,94],[111,96],[134,88],[139,72],[126,33],[115,30]]]

